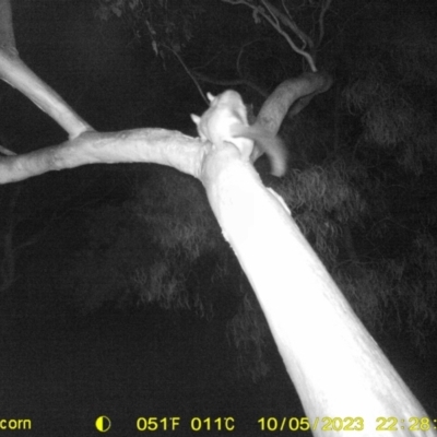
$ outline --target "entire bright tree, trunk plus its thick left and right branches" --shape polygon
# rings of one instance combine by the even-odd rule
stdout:
[[[1,147],[7,156],[0,157],[0,184],[85,164],[121,162],[153,162],[198,177],[296,386],[308,416],[300,420],[300,427],[323,437],[350,436],[352,430],[374,436],[378,426],[386,436],[421,430],[421,435],[436,435],[426,428],[425,411],[357,319],[284,203],[263,187],[236,147],[213,146],[162,129],[95,132],[19,58],[8,0],[0,0],[0,78],[33,99],[70,139],[19,156]],[[295,101],[327,86],[326,76],[312,73],[285,82],[267,102],[276,104],[277,110],[265,106],[259,122],[276,130],[277,119]],[[387,422],[389,417],[393,418]],[[282,425],[296,426],[295,422],[277,426]]]

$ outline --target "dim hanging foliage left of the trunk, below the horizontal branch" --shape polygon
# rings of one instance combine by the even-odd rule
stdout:
[[[239,375],[265,375],[265,320],[199,182],[160,170],[135,199],[85,216],[58,284],[82,312],[158,305],[223,320]]]

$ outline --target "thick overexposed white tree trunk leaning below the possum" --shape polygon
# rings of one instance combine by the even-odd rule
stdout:
[[[262,186],[249,165],[222,161],[214,162],[204,182],[210,203],[258,296],[314,435],[386,430],[386,436],[411,436],[425,430],[435,436],[427,429],[433,422],[423,420],[426,412],[282,200]],[[306,428],[305,420],[300,426]]]

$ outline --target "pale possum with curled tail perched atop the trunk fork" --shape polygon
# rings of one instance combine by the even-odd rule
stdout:
[[[270,160],[272,174],[283,176],[286,172],[287,153],[281,139],[265,128],[249,125],[247,109],[236,91],[225,91],[214,97],[208,93],[210,107],[201,116],[191,115],[198,127],[199,137],[216,145],[234,144],[245,160],[250,160],[255,146]]]

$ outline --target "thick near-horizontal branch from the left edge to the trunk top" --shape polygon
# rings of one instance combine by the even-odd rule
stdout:
[[[165,129],[84,132],[59,145],[0,157],[0,184],[87,164],[155,163],[200,177],[210,144]]]

